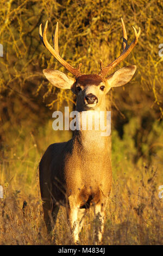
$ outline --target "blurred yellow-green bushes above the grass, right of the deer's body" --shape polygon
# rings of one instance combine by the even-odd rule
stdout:
[[[152,166],[156,164],[161,172],[163,122],[156,120],[152,127],[146,130],[142,126],[143,121],[139,117],[133,117],[130,118],[129,123],[123,125],[122,138],[116,130],[112,131],[114,175],[118,170],[121,171],[122,166],[124,172],[128,172],[135,164],[142,164],[144,161]]]

